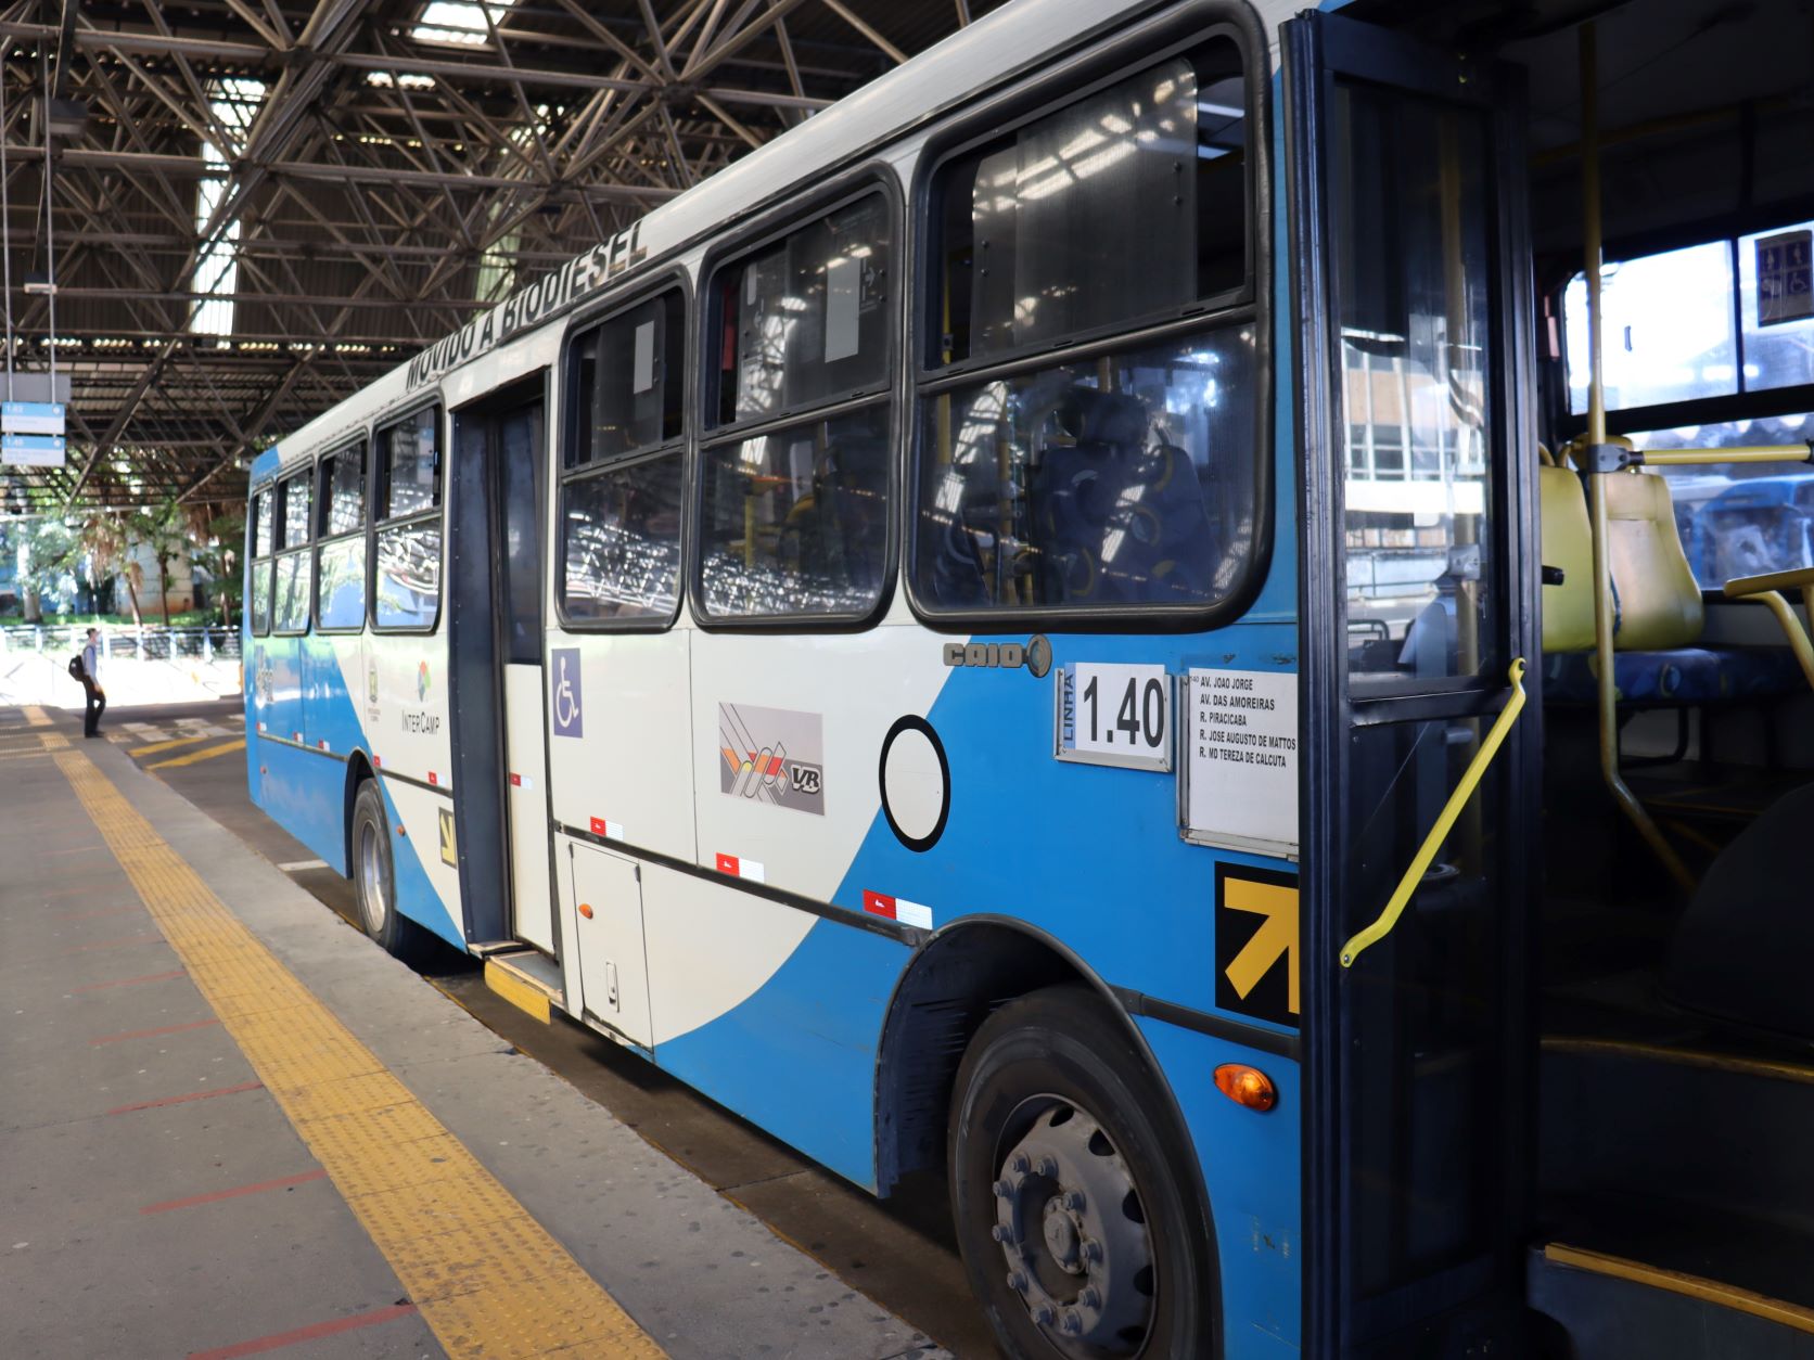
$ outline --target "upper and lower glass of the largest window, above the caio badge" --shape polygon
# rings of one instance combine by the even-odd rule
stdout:
[[[970,372],[922,399],[923,609],[1201,613],[1239,591],[1259,439],[1244,107],[1215,38],[940,167],[929,359]],[[1204,319],[1177,334],[1185,312]]]

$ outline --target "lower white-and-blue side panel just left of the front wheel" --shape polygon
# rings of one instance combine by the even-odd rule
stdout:
[[[644,881],[658,874],[644,869]],[[733,916],[766,918],[766,934],[782,937],[804,923],[805,937],[747,999],[726,1005],[722,992],[709,994],[740,990],[749,968],[715,967],[715,961],[729,965],[735,952],[713,939],[720,927],[691,930],[691,914],[671,905],[680,894],[662,885],[668,907],[651,905],[644,914],[651,972],[657,959],[668,961],[658,968],[668,985],[651,988],[657,1064],[847,1180],[874,1190],[876,1048],[894,983],[907,967],[907,945],[736,889],[689,883],[718,899],[711,908],[702,896],[695,907],[704,908],[700,916],[711,912],[718,923]],[[688,970],[698,972],[697,983],[686,981]],[[718,1017],[662,1037],[660,1017],[673,1012],[677,986],[700,992],[682,997],[682,1005],[717,1010]]]

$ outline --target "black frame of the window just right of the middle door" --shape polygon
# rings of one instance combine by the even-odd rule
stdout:
[[[579,423],[584,419],[579,404],[571,399],[579,386],[575,364],[579,363],[580,341],[584,341],[593,330],[606,326],[617,317],[635,312],[639,306],[673,290],[678,290],[680,294],[680,432],[671,439],[662,439],[655,444],[631,450],[629,453],[613,453],[602,459],[573,464],[571,468],[566,466],[568,441],[575,441],[579,437]],[[653,279],[639,279],[633,288],[615,292],[613,296],[602,299],[597,306],[590,306],[577,314],[568,325],[566,337],[561,343],[561,439],[555,448],[555,459],[551,459],[559,471],[559,486],[555,495],[553,531],[550,537],[553,539],[551,546],[555,553],[555,620],[561,624],[564,633],[666,633],[680,618],[680,609],[688,595],[688,560],[691,555],[688,540],[693,531],[693,442],[698,428],[697,401],[700,374],[698,364],[693,363],[695,337],[698,334],[698,316],[695,312],[697,301],[693,281],[688,277],[686,270],[668,270]],[[584,482],[613,470],[635,468],[644,462],[657,462],[669,457],[680,459],[680,573],[675,580],[673,607],[666,617],[642,615],[635,618],[575,618],[566,607],[568,488],[575,482]]]

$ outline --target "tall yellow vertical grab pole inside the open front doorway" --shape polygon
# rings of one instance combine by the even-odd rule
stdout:
[[[1600,345],[1600,100],[1598,56],[1593,22],[1582,24],[1582,247],[1587,268],[1587,442],[1605,442],[1605,368]],[[1618,684],[1613,669],[1613,566],[1607,555],[1605,479],[1620,473],[1589,471],[1587,515],[1593,526],[1593,633],[1595,693],[1600,707],[1600,774],[1613,801],[1631,818],[1669,874],[1692,890],[1682,856],[1643,811],[1643,803],[1618,772]]]

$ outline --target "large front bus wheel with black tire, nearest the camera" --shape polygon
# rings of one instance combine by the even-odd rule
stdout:
[[[952,1092],[951,1208],[1003,1353],[1215,1355],[1215,1244],[1177,1122],[1088,986],[1025,996],[976,1032]]]

